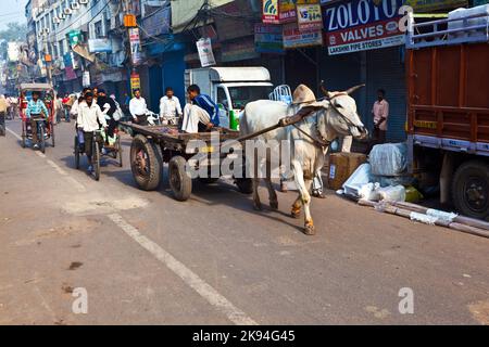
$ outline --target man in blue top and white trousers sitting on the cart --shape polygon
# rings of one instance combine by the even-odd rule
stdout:
[[[197,85],[188,87],[187,93],[191,103],[185,106],[181,130],[196,133],[199,130],[210,131],[213,127],[218,127],[220,108],[211,97],[201,94]]]

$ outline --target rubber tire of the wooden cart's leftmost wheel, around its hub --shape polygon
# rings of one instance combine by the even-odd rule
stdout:
[[[147,175],[141,175],[136,164],[136,156],[139,151],[143,151],[148,156],[149,168]],[[154,191],[160,185],[163,159],[154,143],[142,134],[137,134],[133,139],[133,144],[130,145],[130,169],[133,170],[133,177],[136,183],[141,190]]]

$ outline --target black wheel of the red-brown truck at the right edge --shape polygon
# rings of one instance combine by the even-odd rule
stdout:
[[[489,164],[481,160],[463,163],[452,180],[452,200],[464,216],[489,218]]]

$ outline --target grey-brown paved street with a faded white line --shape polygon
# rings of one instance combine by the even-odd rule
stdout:
[[[293,193],[279,211],[227,182],[177,203],[166,182],[136,189],[127,157],[96,182],[73,168],[73,125],[57,132],[46,155],[0,138],[0,324],[489,324],[489,240],[334,195],[305,236]]]

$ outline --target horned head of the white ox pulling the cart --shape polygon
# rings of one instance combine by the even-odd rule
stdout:
[[[368,137],[368,131],[360,119],[356,102],[351,97],[364,86],[352,87],[343,92],[329,92],[322,83],[321,90],[326,98],[321,103],[326,116],[318,118],[318,129],[324,139],[353,136],[355,139],[365,140]]]

